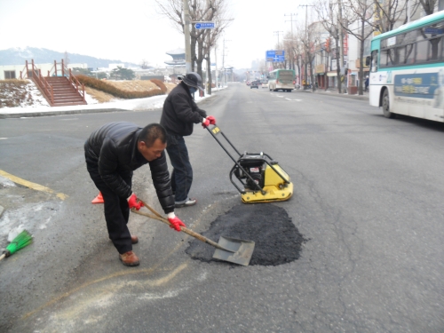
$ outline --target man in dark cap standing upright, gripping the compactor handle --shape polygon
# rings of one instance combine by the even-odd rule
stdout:
[[[188,157],[184,137],[193,133],[194,123],[202,123],[205,128],[214,125],[216,119],[197,107],[192,94],[200,89],[203,91],[201,75],[188,73],[165,99],[161,124],[167,131],[168,146],[173,171],[171,187],[175,194],[175,207],[188,207],[196,203],[188,196],[193,182],[193,169]]]

